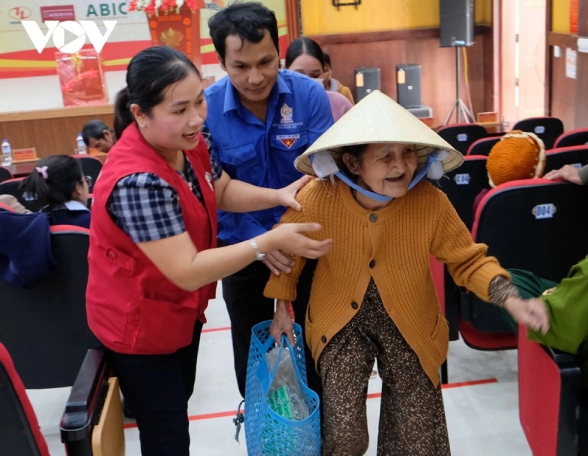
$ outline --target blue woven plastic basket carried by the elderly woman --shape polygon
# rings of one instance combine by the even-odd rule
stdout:
[[[296,344],[292,347],[283,336],[282,348],[288,347],[292,358],[296,360],[294,368],[310,415],[305,420],[288,420],[280,417],[267,403],[269,388],[277,371],[269,371],[265,357],[275,346],[275,340],[269,335],[270,324],[272,321],[263,321],[253,327],[249,346],[245,384],[245,438],[248,454],[320,456],[319,397],[306,385],[304,341],[302,328],[298,324],[294,324]]]

